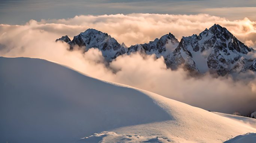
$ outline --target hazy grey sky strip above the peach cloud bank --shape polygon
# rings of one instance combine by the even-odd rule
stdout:
[[[30,19],[67,19],[79,15],[158,13],[209,14],[228,20],[256,21],[255,0],[0,0],[1,24],[24,24]]]

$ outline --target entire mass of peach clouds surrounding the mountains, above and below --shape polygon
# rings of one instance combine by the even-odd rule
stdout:
[[[166,69],[164,59],[155,55],[123,55],[106,64],[97,48],[86,53],[68,51],[67,44],[55,42],[62,35],[77,35],[87,28],[95,28],[131,45],[148,42],[172,31],[181,38],[199,33],[213,23],[227,27],[244,42],[255,45],[252,35],[256,24],[247,18],[229,21],[209,15],[120,14],[0,25],[0,56],[44,58],[99,79],[149,90],[196,107],[249,114],[256,110],[256,75],[253,72],[240,74],[237,80],[214,78],[210,74],[195,78],[187,76],[182,69]]]

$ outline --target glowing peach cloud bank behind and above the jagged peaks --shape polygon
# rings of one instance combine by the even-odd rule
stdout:
[[[36,23],[36,22],[31,22]],[[242,42],[256,41],[256,22],[248,18],[230,21],[226,18],[199,15],[161,15],[133,13],[129,15],[81,15],[70,19],[42,20],[38,26],[74,36],[88,28],[107,32],[118,42],[129,45],[146,43],[171,32],[179,40],[182,36],[199,34],[214,23],[226,27]],[[57,26],[58,25],[58,26]],[[63,31],[65,29],[65,31]],[[62,34],[62,35],[63,35]],[[255,44],[252,45],[255,47]]]

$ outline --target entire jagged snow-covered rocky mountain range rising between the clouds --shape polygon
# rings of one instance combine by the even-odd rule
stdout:
[[[199,35],[183,37],[180,42],[169,33],[160,39],[156,38],[149,43],[136,44],[129,48],[95,29],[88,29],[74,36],[72,41],[67,36],[57,39],[59,40],[70,44],[70,49],[75,45],[86,47],[85,49],[99,48],[107,61],[112,61],[122,54],[139,52],[156,54],[156,57],[163,56],[167,67],[171,69],[184,65],[185,69],[196,73],[210,71],[219,75],[246,70],[256,71],[256,59],[252,56],[256,51],[239,41],[226,28],[216,24]]]

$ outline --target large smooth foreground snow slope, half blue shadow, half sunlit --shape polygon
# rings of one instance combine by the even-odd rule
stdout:
[[[235,119],[42,59],[0,57],[0,69],[4,143],[220,143],[256,132]]]

